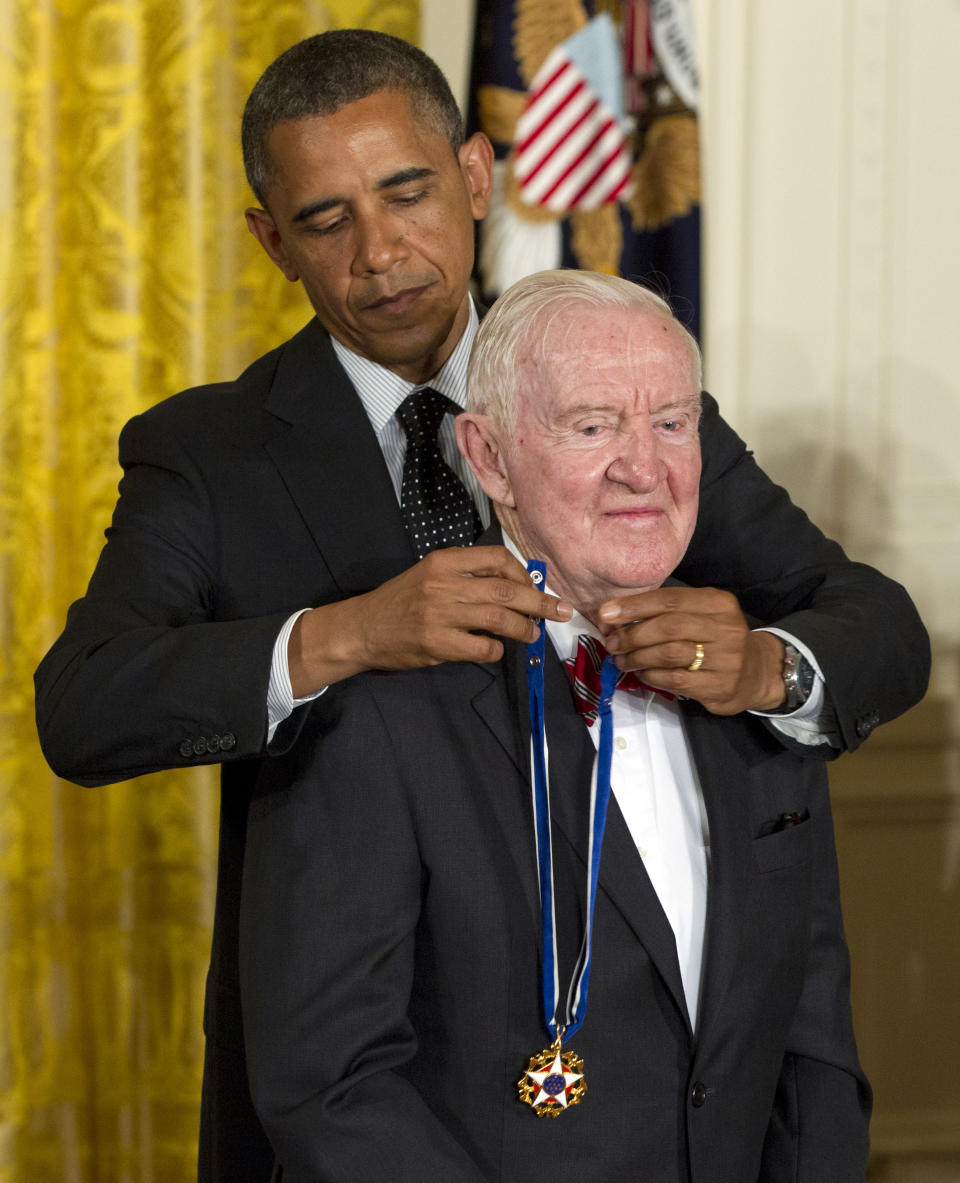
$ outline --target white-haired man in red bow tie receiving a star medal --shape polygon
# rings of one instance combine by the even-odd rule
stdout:
[[[698,414],[695,342],[625,280],[534,276],[484,319],[457,438],[489,541],[576,612],[334,686],[263,765],[241,993],[288,1183],[863,1179],[819,749],[683,693],[745,662],[784,691],[777,639],[669,582]]]

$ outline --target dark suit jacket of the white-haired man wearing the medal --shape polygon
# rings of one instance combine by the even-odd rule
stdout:
[[[511,646],[497,666],[353,679],[260,768],[240,981],[284,1183],[861,1183],[870,1095],[825,765],[746,716],[684,709],[711,845],[696,1035],[672,931],[612,807],[571,1041],[587,1093],[556,1119],[518,1101],[549,1042],[523,660]],[[553,654],[548,677],[565,982],[593,745]],[[807,820],[769,832],[793,812]]]

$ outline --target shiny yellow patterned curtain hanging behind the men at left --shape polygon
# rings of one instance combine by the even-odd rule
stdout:
[[[0,0],[0,1181],[195,1178],[208,771],[79,789],[32,673],[82,594],[116,438],[307,318],[243,226],[239,115],[301,37],[418,0]]]

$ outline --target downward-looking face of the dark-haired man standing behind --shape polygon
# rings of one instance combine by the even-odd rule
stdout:
[[[278,124],[268,150],[269,211],[246,214],[264,250],[333,337],[408,381],[432,376],[468,321],[489,141],[455,154],[408,95],[382,90]]]

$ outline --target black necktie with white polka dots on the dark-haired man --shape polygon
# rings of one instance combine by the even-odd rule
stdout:
[[[439,547],[469,547],[482,529],[473,499],[437,446],[444,415],[459,409],[429,386],[408,394],[397,408],[407,435],[400,512],[418,558]]]

